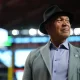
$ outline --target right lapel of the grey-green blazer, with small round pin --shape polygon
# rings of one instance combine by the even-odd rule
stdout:
[[[70,46],[70,57],[69,57],[68,80],[73,80],[72,76],[78,64],[77,62],[78,62],[79,55],[74,46],[72,46],[71,44],[69,44],[69,46]]]

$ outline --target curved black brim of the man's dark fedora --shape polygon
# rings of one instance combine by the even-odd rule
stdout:
[[[50,16],[46,21],[42,22],[39,26],[39,30],[44,33],[44,34],[48,34],[47,31],[45,30],[45,24],[51,19],[54,18],[55,16],[68,16],[70,19],[70,24],[72,24],[73,22],[73,14],[69,13],[69,12],[57,12],[54,15]]]

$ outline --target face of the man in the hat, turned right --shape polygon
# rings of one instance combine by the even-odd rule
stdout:
[[[46,30],[55,38],[67,38],[70,35],[70,27],[69,17],[59,16],[46,27]]]

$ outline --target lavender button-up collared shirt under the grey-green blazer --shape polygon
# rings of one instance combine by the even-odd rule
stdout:
[[[58,48],[50,44],[52,80],[68,79],[69,45],[66,40]]]

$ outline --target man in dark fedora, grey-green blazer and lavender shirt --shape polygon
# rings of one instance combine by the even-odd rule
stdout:
[[[50,35],[50,41],[28,56],[23,80],[80,80],[80,49],[71,45],[73,15],[54,5],[44,13],[40,31]]]

